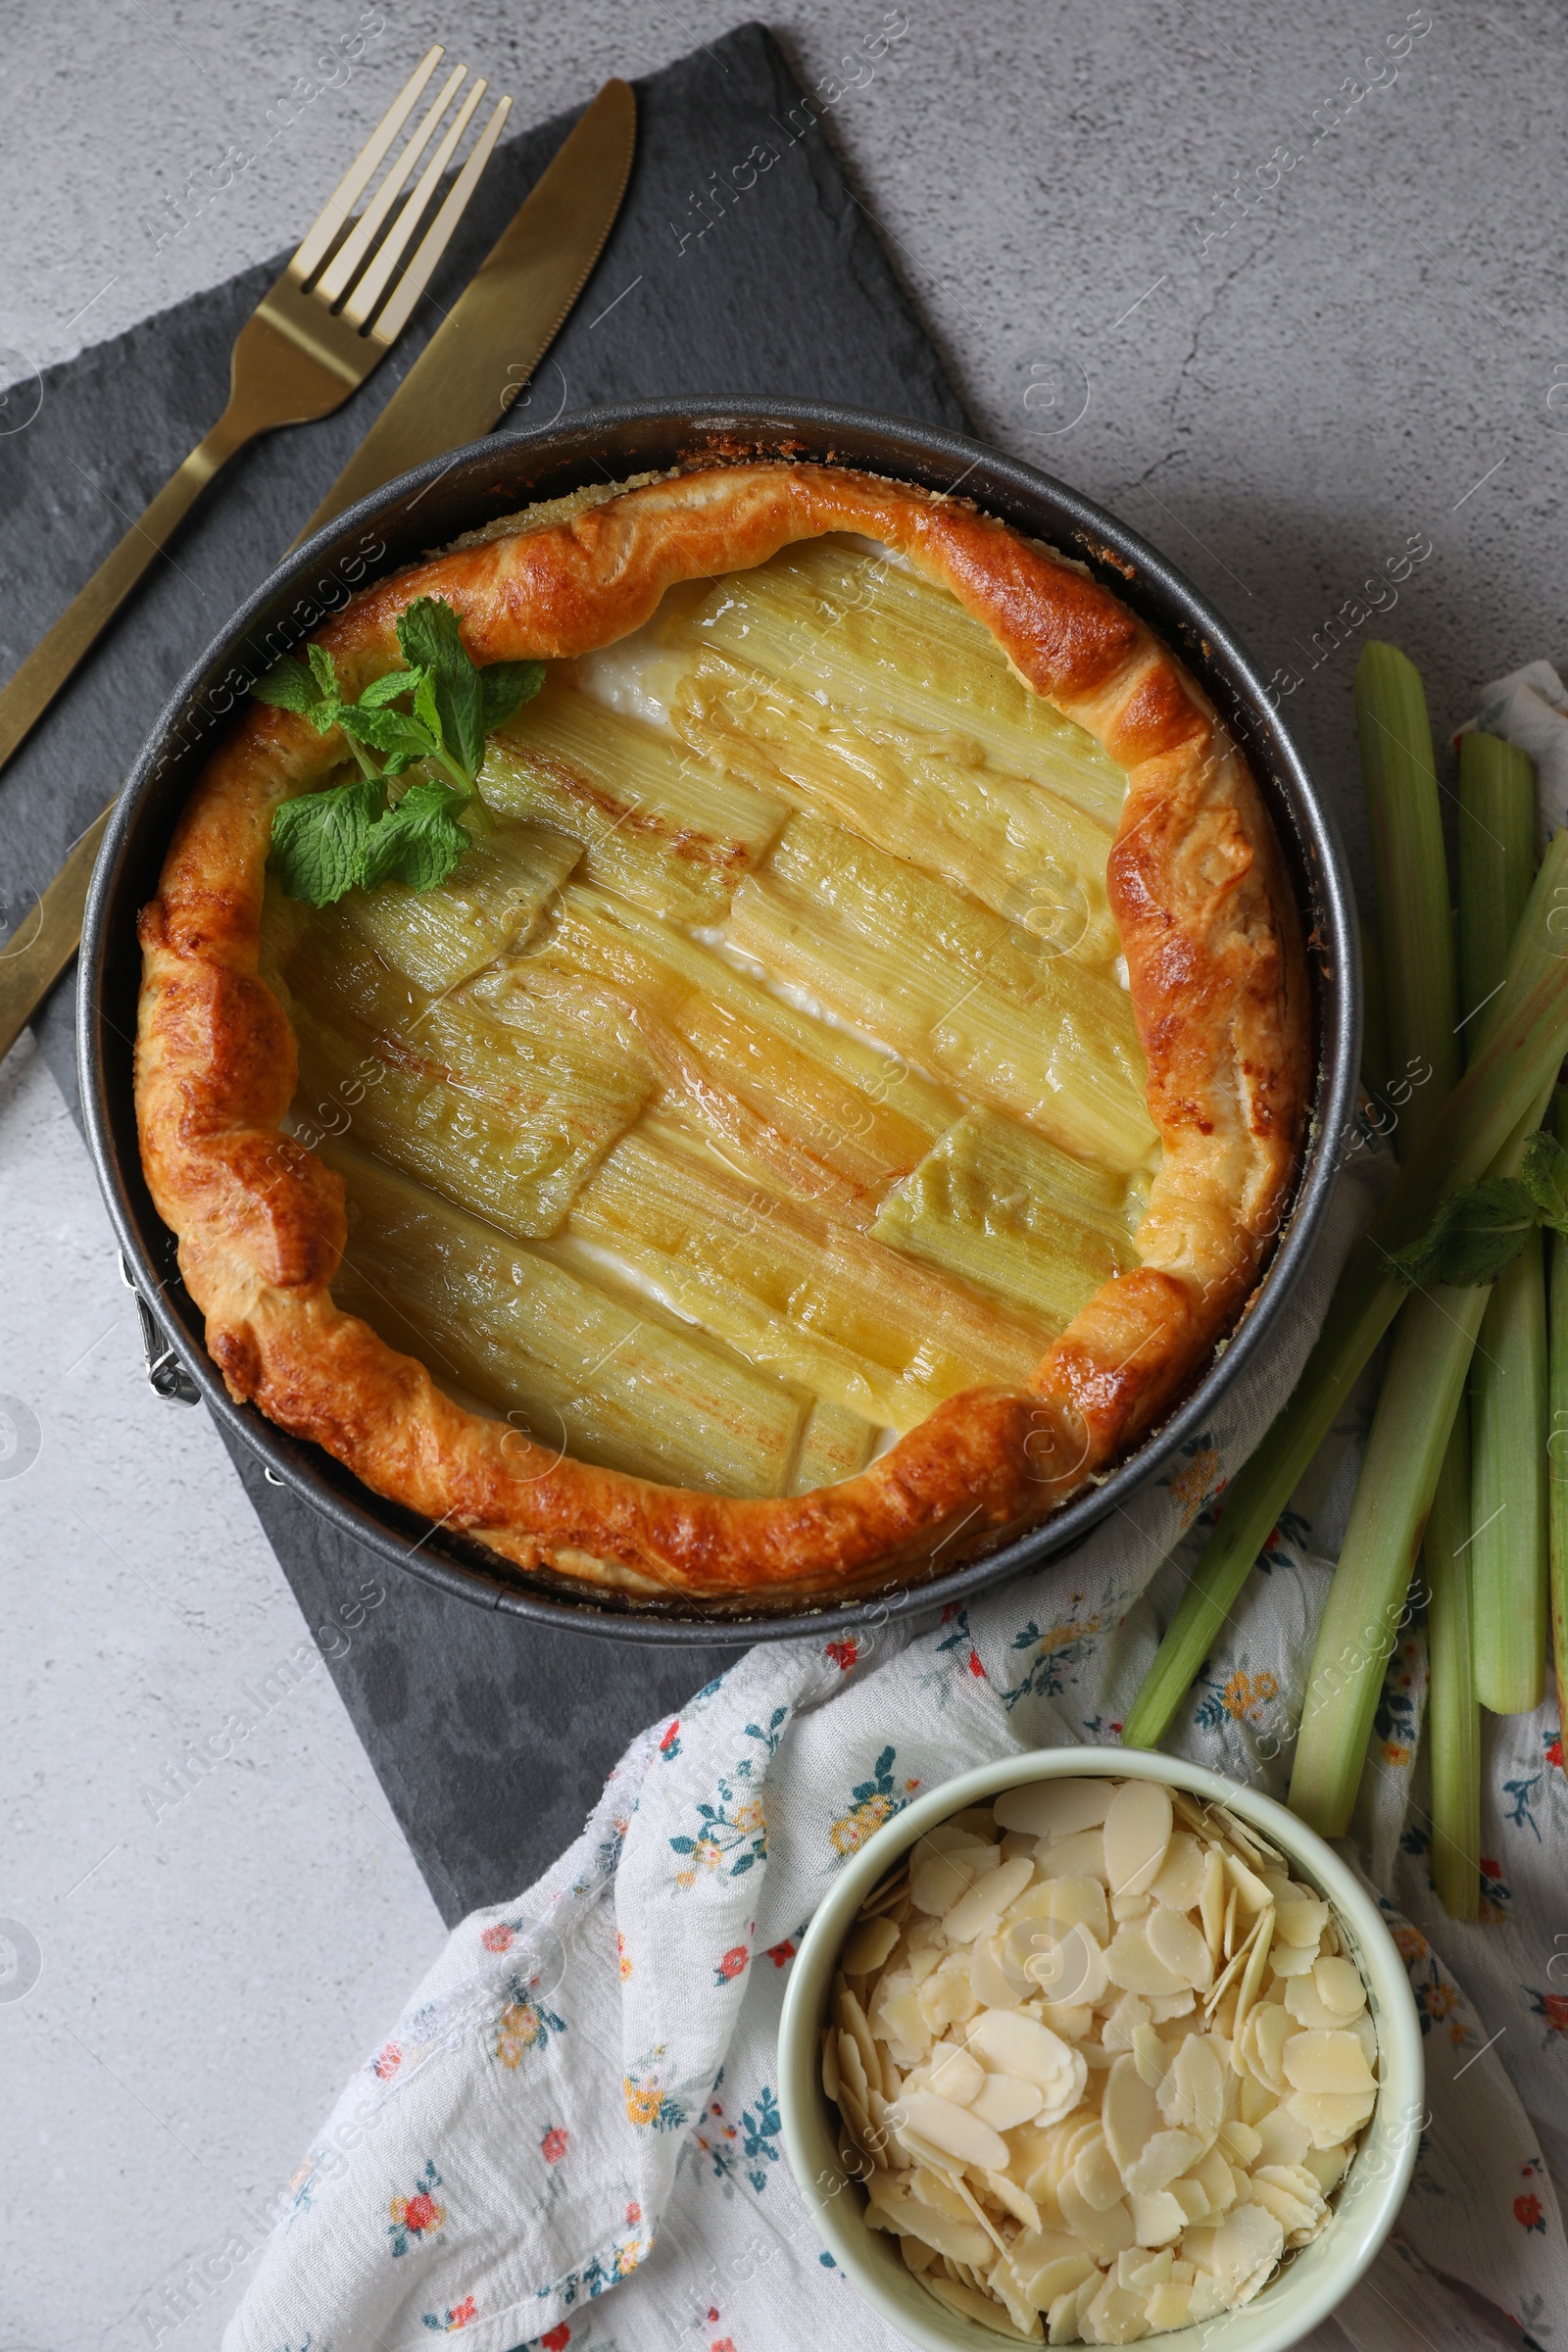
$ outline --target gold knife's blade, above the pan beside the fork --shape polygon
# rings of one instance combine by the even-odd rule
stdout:
[[[489,433],[588,285],[621,209],[635,143],[637,99],[630,82],[607,82],[294,546],[411,466]]]

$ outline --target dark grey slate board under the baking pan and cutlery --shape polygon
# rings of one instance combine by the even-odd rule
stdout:
[[[964,430],[771,35],[741,26],[635,87],[637,162],[621,219],[515,421],[607,400],[752,393]],[[118,788],[179,675],[324,496],[567,127],[548,122],[496,153],[407,343],[336,416],[259,442],[228,468],[0,776],[0,934]],[[764,169],[762,158],[748,165],[757,148],[776,158]],[[741,193],[736,167],[755,179]],[[0,437],[0,675],[219,414],[230,343],[280,266],[52,369],[28,430]],[[73,978],[38,1033],[75,1105]],[[538,1877],[625,1740],[736,1653],[630,1646],[451,1599],[388,1571],[268,1484],[240,1442],[230,1451],[447,1919]],[[360,1621],[367,1588],[383,1599]]]

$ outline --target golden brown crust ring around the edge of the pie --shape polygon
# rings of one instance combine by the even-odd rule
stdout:
[[[336,739],[252,703],[207,764],[143,910],[141,1155],[230,1395],[367,1486],[524,1569],[637,1592],[830,1599],[929,1576],[1056,1510],[1135,1444],[1246,1303],[1295,1174],[1309,1021],[1300,922],[1258,788],[1194,682],[1105,588],[973,508],[827,466],[741,463],[517,517],[378,583],[320,642],[360,691],[395,619],[447,597],[477,661],[628,635],[665,588],[860,532],[947,586],[1023,677],[1128,771],[1107,887],[1164,1143],[1143,1265],[1107,1282],[1032,1395],[976,1388],[858,1477],[726,1501],[576,1461],[447,1397],[329,1291],[343,1188],[280,1136],[294,1035],[256,974],[273,809]]]

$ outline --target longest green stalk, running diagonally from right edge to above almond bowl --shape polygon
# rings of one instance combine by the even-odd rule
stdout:
[[[1410,1155],[1371,1232],[1352,1251],[1291,1402],[1225,1491],[1220,1524],[1121,1726],[1124,1745],[1157,1748],[1171,1729],[1269,1529],[1408,1298],[1403,1284],[1387,1272],[1387,1251],[1425,1232],[1439,1200],[1483,1176],[1547,1096],[1568,1051],[1561,906],[1568,906],[1568,828],[1552,840],[1535,877],[1507,981],[1486,1016],[1474,1063],[1443,1103],[1425,1145]]]

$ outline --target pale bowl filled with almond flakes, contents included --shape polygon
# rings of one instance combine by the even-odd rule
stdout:
[[[1058,1748],[844,1867],[780,2023],[785,2150],[912,2343],[1281,2352],[1387,2237],[1425,2114],[1375,1900],[1220,1773]]]

